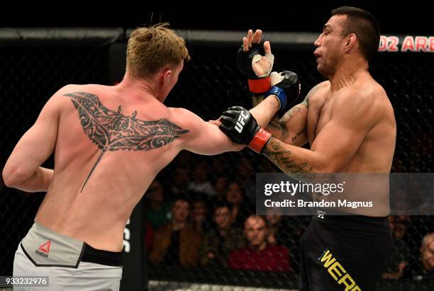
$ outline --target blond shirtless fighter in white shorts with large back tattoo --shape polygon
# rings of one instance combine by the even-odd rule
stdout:
[[[123,230],[157,173],[182,149],[210,155],[244,147],[189,110],[163,104],[189,58],[167,25],[138,28],[120,84],[67,85],[45,104],[3,169],[6,186],[47,192],[16,251],[14,276],[49,275],[45,290],[118,290]],[[252,110],[262,126],[273,99]],[[41,167],[53,152],[54,171]]]

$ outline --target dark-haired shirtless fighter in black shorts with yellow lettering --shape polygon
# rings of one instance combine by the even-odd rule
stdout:
[[[254,35],[250,30],[238,58],[253,93],[269,87],[269,81],[258,81],[268,77],[262,67],[253,68],[252,74],[243,64],[260,38],[260,30]],[[314,44],[318,72],[328,81],[313,87],[302,103],[280,120],[274,118],[266,129],[247,110],[233,107],[223,113],[221,130],[235,142],[250,144],[295,178],[309,173],[389,173],[396,140],[394,110],[368,72],[379,46],[377,21],[360,8],[336,8]],[[279,90],[279,84],[274,86],[277,95]],[[274,108],[267,107],[271,120],[279,103],[266,100],[274,102]],[[239,132],[235,125],[240,115],[245,126]],[[262,132],[262,139],[252,147],[256,132]],[[306,142],[310,149],[300,147]],[[299,290],[373,290],[391,250],[384,216],[313,217],[301,239]]]

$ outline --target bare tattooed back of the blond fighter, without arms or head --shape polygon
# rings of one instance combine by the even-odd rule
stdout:
[[[182,121],[177,120],[173,108],[152,96],[131,96],[111,86],[68,86],[67,93],[74,92],[91,93],[101,104],[89,104],[86,98],[62,93],[55,174],[35,219],[96,249],[121,251],[123,230],[133,208],[156,174],[182,149],[179,141],[183,129],[169,129],[167,137],[160,140],[152,140],[152,131],[168,130],[170,122],[179,125]],[[87,113],[79,118],[73,100],[80,108],[97,109],[97,114],[103,116],[93,123],[87,120]],[[169,123],[138,121],[162,119]]]

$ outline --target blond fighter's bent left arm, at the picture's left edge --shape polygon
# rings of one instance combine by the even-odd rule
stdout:
[[[26,192],[45,192],[52,181],[53,170],[40,165],[55,149],[60,117],[60,101],[52,96],[40,112],[38,120],[21,137],[3,169],[8,187]]]

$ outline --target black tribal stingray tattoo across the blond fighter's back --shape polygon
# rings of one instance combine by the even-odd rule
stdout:
[[[117,112],[110,110],[92,93],[74,92],[64,96],[71,98],[77,109],[84,133],[91,142],[102,149],[101,155],[84,181],[82,190],[105,152],[149,151],[164,147],[189,132],[165,118],[145,121],[135,118],[137,111],[131,116],[125,116],[121,113],[121,106]]]

